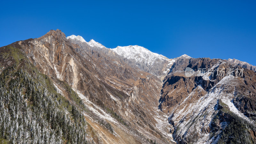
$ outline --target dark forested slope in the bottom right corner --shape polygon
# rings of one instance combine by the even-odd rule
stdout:
[[[222,129],[218,134],[217,143],[256,143],[256,140],[250,135],[250,131],[256,130],[253,124],[231,112],[221,100],[218,101],[218,110],[211,123],[211,136]]]

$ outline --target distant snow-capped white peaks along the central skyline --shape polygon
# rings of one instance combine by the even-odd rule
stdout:
[[[123,60],[132,68],[139,68],[158,77],[164,77],[175,61],[175,59],[168,59],[163,55],[150,52],[148,49],[138,45],[117,46],[114,49],[109,49],[94,40],[87,43],[81,36],[72,35],[68,36],[67,39],[71,39],[73,43],[79,44],[81,47],[87,48],[90,46],[92,50],[105,52],[114,59]]]

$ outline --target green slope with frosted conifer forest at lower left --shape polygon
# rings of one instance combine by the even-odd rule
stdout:
[[[0,143],[86,143],[85,107],[60,95],[17,47],[0,49]]]

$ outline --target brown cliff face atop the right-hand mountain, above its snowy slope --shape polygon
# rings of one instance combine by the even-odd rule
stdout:
[[[221,60],[219,59],[211,60],[209,58],[190,60],[178,59],[172,66],[172,72],[164,79],[165,82],[162,89],[162,96],[159,100],[161,102],[159,108],[164,110],[164,107],[170,109],[171,107],[176,106],[198,85],[201,85],[205,91],[211,89],[221,80],[221,77],[215,77],[215,79],[213,79],[213,77],[212,80],[205,80],[202,76],[187,77],[185,76],[184,70],[186,67],[190,67],[192,69],[207,68],[207,71],[208,68],[212,68],[215,64],[219,64],[220,61]],[[217,67],[215,69],[217,69]]]

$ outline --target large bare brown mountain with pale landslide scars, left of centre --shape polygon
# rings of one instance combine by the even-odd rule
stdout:
[[[113,63],[104,53],[88,54],[85,47],[70,43],[60,30],[9,46],[47,75],[61,99],[84,115],[89,143],[172,142],[168,116],[157,109],[162,82],[156,76],[121,61]],[[7,136],[3,138],[11,140]],[[59,141],[71,140],[65,137]]]

